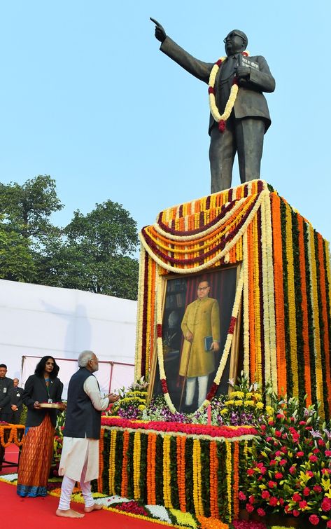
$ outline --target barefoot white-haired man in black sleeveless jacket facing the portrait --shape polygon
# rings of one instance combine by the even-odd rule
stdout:
[[[70,508],[70,498],[76,481],[80,482],[85,512],[102,508],[94,503],[91,494],[91,480],[99,474],[99,438],[101,411],[109,402],[118,400],[111,393],[101,397],[97,378],[93,375],[99,369],[94,352],[83,351],[78,357],[80,369],[71,377],[68,387],[68,404],[59,474],[64,476],[57,516],[82,518],[84,515]]]

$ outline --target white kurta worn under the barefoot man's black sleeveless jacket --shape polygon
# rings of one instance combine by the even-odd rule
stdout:
[[[96,410],[105,410],[108,407],[108,397],[101,397],[97,378],[89,376],[83,385],[85,393],[90,397]],[[88,437],[64,437],[59,462],[59,475],[68,476],[75,481],[80,481],[83,466],[87,460],[85,481],[99,477],[99,439]]]

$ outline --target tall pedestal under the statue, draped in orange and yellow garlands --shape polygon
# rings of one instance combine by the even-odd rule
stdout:
[[[167,281],[239,266],[223,354],[204,404],[218,392],[242,306],[240,367],[249,380],[301,401],[307,394],[307,404],[319,401],[321,415],[330,417],[329,245],[272,186],[254,180],[169,207],[140,238],[136,378],[153,373],[157,356],[162,391],[176,407],[164,367]],[[180,289],[175,301],[175,308],[185,305]]]

